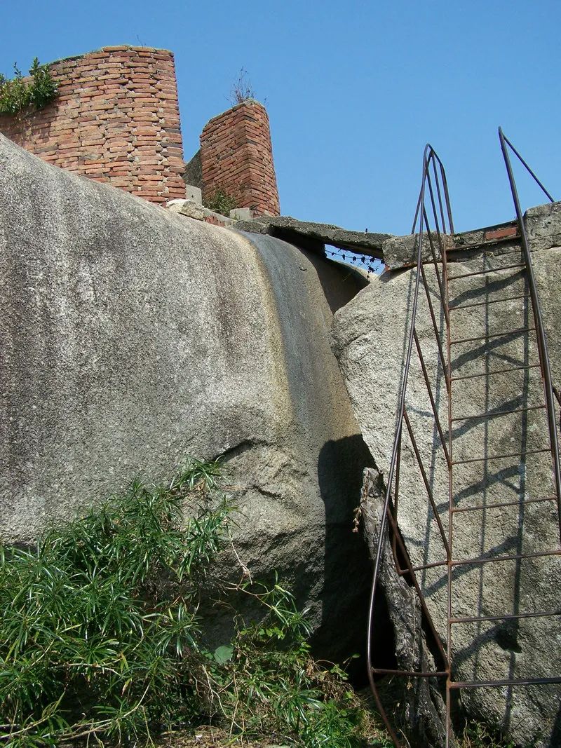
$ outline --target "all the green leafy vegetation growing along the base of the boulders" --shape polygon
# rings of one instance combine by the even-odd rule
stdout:
[[[310,656],[283,584],[215,578],[233,510],[218,472],[189,460],[168,485],[137,481],[32,550],[1,549],[4,746],[150,742],[204,724],[307,748],[388,745],[343,671]],[[223,604],[251,595],[263,613],[250,622],[233,609],[236,633],[213,650],[197,615],[208,586]]]

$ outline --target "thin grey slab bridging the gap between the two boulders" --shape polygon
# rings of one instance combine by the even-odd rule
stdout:
[[[270,234],[280,239],[298,243],[302,239],[328,244],[341,249],[356,250],[381,260],[381,245],[390,234],[349,231],[331,224],[317,224],[311,221],[298,221],[290,216],[260,217],[253,221],[240,222],[239,230],[251,233]]]

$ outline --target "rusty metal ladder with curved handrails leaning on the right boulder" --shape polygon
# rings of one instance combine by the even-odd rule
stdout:
[[[561,550],[554,549],[548,551],[539,552],[520,552],[515,554],[500,554],[493,553],[483,554],[482,556],[468,558],[468,559],[454,559],[453,558],[453,517],[456,512],[474,512],[481,509],[485,509],[485,506],[468,506],[468,507],[457,507],[454,503],[453,496],[453,466],[454,465],[465,465],[466,463],[486,463],[488,460],[515,458],[519,460],[526,460],[527,456],[537,455],[538,453],[544,453],[551,451],[551,458],[553,463],[554,472],[554,490],[555,495],[552,497],[528,499],[527,503],[537,503],[546,500],[557,499],[557,515],[560,530],[561,539],[561,470],[560,470],[560,457],[559,447],[557,438],[557,423],[556,423],[556,412],[554,407],[554,397],[559,399],[557,390],[554,388],[551,380],[551,369],[548,358],[548,348],[545,336],[545,329],[542,319],[542,310],[539,304],[538,290],[536,286],[536,280],[533,273],[533,264],[530,256],[530,246],[527,238],[526,227],[524,225],[524,216],[521,211],[520,200],[518,198],[518,191],[515,185],[515,180],[512,174],[512,166],[509,159],[509,150],[520,159],[521,163],[530,173],[536,183],[542,188],[548,197],[548,200],[553,201],[551,194],[545,189],[542,183],[539,182],[536,175],[522,159],[517,150],[512,146],[510,141],[503,135],[501,129],[499,129],[500,146],[503,151],[503,156],[506,164],[506,171],[509,177],[510,188],[512,191],[512,197],[515,203],[516,215],[518,218],[518,232],[520,236],[516,237],[516,241],[521,244],[522,263],[520,265],[503,265],[494,269],[485,269],[478,272],[461,273],[456,275],[449,275],[448,273],[448,261],[447,261],[447,249],[453,248],[450,240],[447,241],[447,234],[453,234],[453,218],[452,211],[450,209],[450,197],[448,194],[446,174],[444,172],[444,166],[441,160],[438,158],[435,150],[430,145],[427,145],[423,153],[423,178],[421,183],[419,200],[417,202],[417,209],[415,212],[413,230],[414,236],[416,236],[416,257],[417,257],[417,272],[414,280],[413,288],[413,303],[411,306],[411,321],[410,329],[407,336],[407,346],[405,352],[405,362],[403,367],[402,384],[399,393],[399,405],[397,411],[396,420],[396,432],[393,441],[393,450],[391,453],[390,467],[387,474],[386,481],[386,492],[384,495],[383,508],[381,510],[381,518],[378,527],[378,539],[375,548],[375,559],[374,559],[374,574],[373,584],[370,594],[370,611],[368,616],[368,628],[367,628],[367,662],[368,662],[368,677],[370,680],[370,687],[373,691],[378,710],[384,719],[384,723],[387,726],[388,732],[393,740],[393,743],[397,748],[402,746],[399,738],[396,735],[396,731],[393,729],[392,724],[384,711],[384,707],[381,703],[380,695],[378,693],[378,687],[376,685],[376,678],[382,675],[396,675],[403,676],[404,678],[441,678],[442,681],[446,681],[446,746],[450,745],[450,741],[453,735],[452,728],[452,693],[458,692],[462,689],[473,689],[478,687],[502,687],[502,686],[525,686],[525,685],[536,685],[536,684],[559,684],[561,683],[561,676],[555,677],[542,677],[536,676],[532,678],[497,678],[496,680],[489,680],[488,678],[483,680],[458,680],[456,679],[456,673],[453,672],[453,637],[452,637],[452,626],[459,623],[467,622],[485,622],[485,621],[502,621],[512,620],[518,621],[518,619],[535,618],[536,616],[559,616],[560,610],[546,610],[546,611],[531,611],[524,612],[516,608],[515,613],[505,613],[498,616],[481,616],[473,615],[471,617],[456,618],[453,616],[453,571],[459,566],[465,566],[468,568],[479,567],[482,568],[484,564],[494,561],[513,560],[515,563],[521,562],[524,559],[535,559],[539,557],[551,557],[554,555],[560,555]],[[484,243],[484,242],[483,242]],[[480,245],[477,245],[480,246]],[[485,250],[483,250],[485,251]],[[433,304],[431,293],[429,291],[429,283],[427,283],[427,273],[425,265],[434,268],[435,272],[435,292],[440,301],[440,307],[435,311],[435,304]],[[497,301],[509,301],[511,298],[529,298],[530,304],[533,311],[534,326],[530,325],[521,331],[515,331],[521,334],[530,334],[531,331],[536,332],[537,338],[537,349],[539,354],[539,364],[531,364],[524,366],[517,366],[508,369],[491,370],[485,371],[484,373],[476,373],[468,376],[453,376],[452,368],[450,364],[450,346],[456,343],[469,343],[470,341],[477,340],[477,338],[462,338],[461,340],[452,340],[450,334],[450,311],[456,308],[465,308],[470,306],[479,306],[480,304],[464,304],[462,306],[454,305],[450,307],[449,304],[449,281],[456,280],[457,278],[467,278],[468,276],[483,275],[488,272],[495,272],[500,270],[509,269],[522,269],[521,272],[527,274],[527,283],[530,290],[529,295],[520,295],[508,297],[506,299],[497,299],[494,301],[483,302],[487,305],[497,303]],[[435,334],[435,340],[438,346],[438,362],[439,368],[441,369],[441,378],[444,379],[447,402],[447,433],[442,428],[441,419],[439,417],[438,405],[435,400],[435,393],[432,391],[431,381],[426,366],[425,358],[423,357],[423,351],[420,346],[419,336],[417,334],[417,322],[419,314],[419,298],[420,288],[423,286],[426,295],[426,305],[428,307],[429,316],[431,319],[432,329]],[[444,353],[444,346],[441,340],[441,330],[439,329],[438,319],[441,325],[444,325],[446,334],[446,355]],[[431,325],[429,325],[430,329]],[[498,337],[502,335],[512,334],[512,331],[497,333],[488,335],[487,337]],[[441,450],[441,454],[444,456],[444,462],[447,466],[448,472],[448,496],[447,496],[447,527],[445,527],[445,521],[443,523],[439,512],[437,501],[433,495],[432,482],[429,479],[427,470],[423,465],[423,456],[421,450],[417,445],[417,440],[414,435],[414,429],[411,425],[411,420],[408,416],[408,380],[410,376],[411,364],[414,358],[418,359],[420,364],[420,370],[423,375],[424,385],[426,387],[426,393],[431,405],[432,418],[434,420],[434,438],[435,438],[435,449]],[[522,413],[524,411],[524,417],[527,411],[537,411],[540,408],[531,406],[528,408],[507,408],[506,410],[496,410],[490,413],[483,413],[477,416],[464,416],[462,414],[459,418],[452,417],[452,386],[453,382],[458,379],[469,379],[480,376],[490,376],[515,372],[518,370],[528,370],[533,367],[538,367],[542,373],[543,391],[545,398],[545,405],[540,406],[544,408],[547,416],[548,423],[548,436],[549,436],[549,447],[540,450],[525,450],[522,453],[515,454],[491,454],[485,457],[478,457],[475,459],[462,459],[455,461],[453,459],[453,422],[458,420],[468,420],[479,418],[486,419],[489,417],[496,417],[497,415]],[[429,512],[432,513],[436,526],[438,527],[438,536],[441,538],[441,542],[444,548],[445,560],[436,562],[426,562],[422,565],[413,565],[411,558],[408,554],[408,549],[405,545],[405,540],[402,538],[399,532],[397,512],[399,508],[399,483],[400,483],[400,470],[402,469],[402,437],[405,430],[408,434],[409,440],[412,447],[412,455],[414,462],[420,470],[423,484],[426,490],[429,503]],[[487,508],[498,508],[503,506],[515,506],[519,502],[503,502],[489,504]],[[460,515],[465,516],[465,515]],[[389,543],[389,545],[385,545]],[[560,546],[561,547],[561,546]],[[420,610],[423,615],[423,628],[426,632],[427,637],[430,635],[432,643],[432,656],[435,663],[435,668],[432,671],[420,671],[416,672],[411,669],[388,669],[375,667],[374,656],[375,656],[375,603],[377,599],[378,586],[380,583],[381,565],[384,563],[384,556],[391,559],[393,557],[393,564],[396,568],[396,573],[399,576],[404,577],[414,592],[417,595],[420,603]],[[427,607],[426,600],[423,595],[423,588],[417,579],[417,573],[420,571],[426,571],[429,568],[435,567],[447,567],[447,610],[441,616],[442,619],[447,621],[446,626],[446,646],[444,647],[441,637],[436,630],[436,627],[432,621],[429,608]],[[444,633],[444,632],[443,632]],[[421,663],[423,659],[421,658]],[[398,663],[399,664],[399,663]],[[509,672],[512,676],[513,673]],[[444,685],[444,683],[443,683]],[[443,689],[444,692],[444,689]]]

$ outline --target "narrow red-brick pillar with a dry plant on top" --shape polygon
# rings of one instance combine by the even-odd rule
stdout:
[[[255,215],[279,215],[266,108],[248,100],[213,117],[200,135],[203,193],[221,188]]]

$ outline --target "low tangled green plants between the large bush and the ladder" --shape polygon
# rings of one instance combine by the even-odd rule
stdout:
[[[208,657],[209,713],[228,720],[230,735],[275,735],[304,748],[355,748],[369,732],[383,738],[343,670],[311,657],[310,629],[289,590],[276,577],[271,586],[241,589],[266,614],[249,623],[238,618],[233,641]]]

